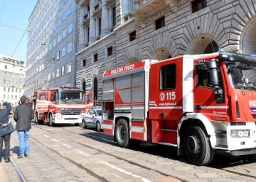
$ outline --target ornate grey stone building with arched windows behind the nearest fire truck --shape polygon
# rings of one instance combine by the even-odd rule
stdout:
[[[76,84],[102,100],[104,71],[223,49],[256,54],[252,0],[76,0]]]

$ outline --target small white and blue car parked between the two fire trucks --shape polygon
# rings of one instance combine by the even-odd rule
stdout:
[[[94,127],[98,132],[103,130],[102,127],[102,108],[91,108],[83,116],[82,127]]]

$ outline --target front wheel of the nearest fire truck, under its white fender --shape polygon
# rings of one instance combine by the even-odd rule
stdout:
[[[208,165],[214,158],[214,149],[197,124],[187,127],[184,133],[184,151],[187,159],[194,165]]]

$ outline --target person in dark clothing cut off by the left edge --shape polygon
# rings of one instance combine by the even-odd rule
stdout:
[[[1,106],[0,106],[0,124],[1,127],[7,127],[9,124],[9,114],[12,109],[12,106],[10,106],[10,103],[5,102],[4,100],[1,100]],[[1,130],[1,129],[0,129]],[[3,141],[5,146],[5,162],[10,162],[10,138],[11,134],[7,134],[0,137],[0,157],[2,158],[2,149],[3,149]],[[1,163],[0,158],[0,163]]]

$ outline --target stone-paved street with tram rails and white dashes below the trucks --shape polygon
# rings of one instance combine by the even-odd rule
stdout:
[[[12,160],[24,181],[256,181],[254,157],[217,154],[211,165],[199,167],[177,157],[176,148],[142,143],[122,149],[112,136],[73,124],[33,122],[30,137],[30,157],[18,159],[12,133]]]

